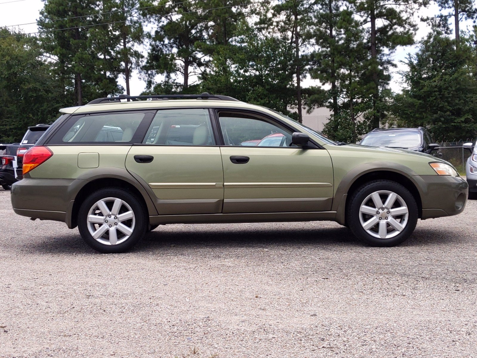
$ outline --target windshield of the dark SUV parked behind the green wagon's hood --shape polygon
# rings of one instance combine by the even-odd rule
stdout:
[[[417,132],[382,131],[368,134],[360,143],[362,146],[388,148],[415,148],[421,144]]]

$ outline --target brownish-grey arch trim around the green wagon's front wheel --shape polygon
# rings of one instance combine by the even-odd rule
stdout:
[[[345,211],[348,197],[364,183],[372,180],[391,180],[404,186],[415,197],[419,218],[422,216],[422,192],[413,176],[415,171],[394,163],[374,162],[358,166],[349,171],[341,180],[334,196],[332,210],[336,211],[336,221],[346,224]]]

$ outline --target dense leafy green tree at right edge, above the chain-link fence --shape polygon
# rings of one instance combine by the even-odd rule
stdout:
[[[457,52],[455,40],[431,33],[408,56],[402,73],[408,88],[394,97],[398,126],[426,126],[438,141],[476,137],[476,57],[467,41]]]

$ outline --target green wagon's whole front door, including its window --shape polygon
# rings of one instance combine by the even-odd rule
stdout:
[[[223,213],[331,210],[333,169],[328,151],[302,149],[273,118],[218,112],[225,146]]]

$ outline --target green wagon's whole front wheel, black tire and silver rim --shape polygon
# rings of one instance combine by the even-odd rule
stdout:
[[[417,203],[403,185],[390,180],[364,184],[351,195],[347,223],[353,233],[373,246],[394,246],[414,231]]]

